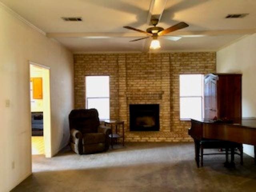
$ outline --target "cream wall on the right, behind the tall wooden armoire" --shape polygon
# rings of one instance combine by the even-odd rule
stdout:
[[[217,72],[242,73],[242,116],[256,117],[256,34],[218,51]],[[244,145],[244,152],[254,156],[252,146]]]

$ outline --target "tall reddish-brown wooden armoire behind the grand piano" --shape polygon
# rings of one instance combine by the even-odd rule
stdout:
[[[242,74],[204,76],[204,118],[241,123]]]

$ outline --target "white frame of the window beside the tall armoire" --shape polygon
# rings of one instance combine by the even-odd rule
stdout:
[[[202,76],[202,81],[201,81],[201,86],[202,86],[202,93],[201,96],[180,96],[180,76],[181,75],[201,75]],[[204,118],[204,74],[179,74],[179,112],[180,110],[180,98],[201,98],[201,117]],[[191,121],[191,118],[180,118],[180,113],[179,113],[179,119],[180,121]]]

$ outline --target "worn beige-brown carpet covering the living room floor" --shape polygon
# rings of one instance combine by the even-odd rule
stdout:
[[[236,168],[224,168],[225,156],[194,162],[192,143],[136,143],[108,152],[77,155],[68,148],[56,157],[33,156],[33,174],[17,192],[255,192],[256,166],[244,155]]]

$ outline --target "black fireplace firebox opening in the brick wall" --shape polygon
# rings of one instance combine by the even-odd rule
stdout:
[[[159,131],[159,104],[130,104],[130,131]]]

